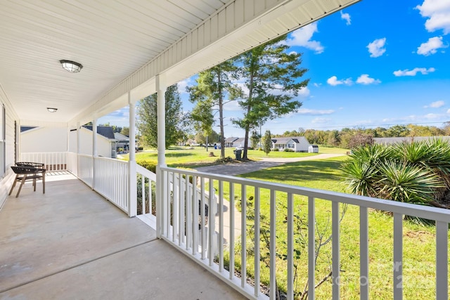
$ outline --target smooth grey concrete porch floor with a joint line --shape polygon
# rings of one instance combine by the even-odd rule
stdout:
[[[0,299],[245,299],[72,175],[0,210]]]

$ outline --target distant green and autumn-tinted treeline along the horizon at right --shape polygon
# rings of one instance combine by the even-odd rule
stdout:
[[[344,128],[341,130],[299,129],[285,131],[274,137],[304,136],[311,144],[329,145],[351,149],[358,145],[372,145],[373,138],[399,138],[414,136],[450,136],[450,122],[444,123],[442,128],[437,126],[420,126],[415,124],[394,125],[389,128],[375,129]]]

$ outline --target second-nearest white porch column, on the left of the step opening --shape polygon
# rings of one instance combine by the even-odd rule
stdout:
[[[128,214],[130,217],[137,214],[137,181],[136,181],[136,112],[135,104],[131,101],[131,93],[128,92],[128,105],[129,105],[129,161],[128,161],[128,174],[129,174],[129,189],[128,189]],[[145,211],[143,211],[143,214]]]

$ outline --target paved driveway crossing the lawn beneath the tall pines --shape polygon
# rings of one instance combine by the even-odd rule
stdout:
[[[307,157],[292,157],[292,158],[264,158],[256,162],[240,162],[236,164],[218,164],[216,166],[200,167],[196,168],[197,171],[221,175],[240,175],[245,173],[250,173],[254,171],[259,171],[262,169],[267,169],[271,167],[281,166],[281,164],[286,164],[288,162],[301,162],[302,160],[311,159],[325,159],[330,157],[338,157],[343,154],[319,154],[316,156]]]

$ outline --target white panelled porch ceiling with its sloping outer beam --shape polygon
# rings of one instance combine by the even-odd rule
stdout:
[[[88,122],[357,1],[0,0],[0,97],[22,125]]]

